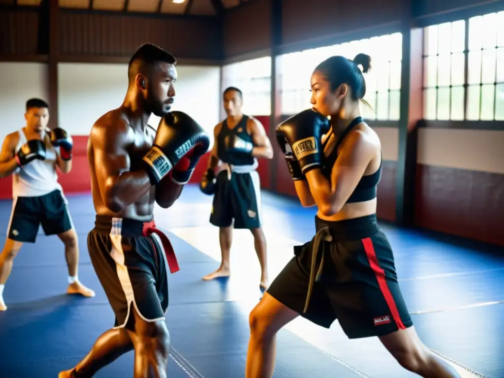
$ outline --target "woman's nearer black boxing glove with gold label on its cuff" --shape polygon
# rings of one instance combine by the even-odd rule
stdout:
[[[304,175],[309,170],[322,166],[324,156],[322,136],[327,134],[330,128],[331,124],[327,117],[315,110],[307,109],[277,126],[277,142],[284,154],[286,142],[289,144]]]

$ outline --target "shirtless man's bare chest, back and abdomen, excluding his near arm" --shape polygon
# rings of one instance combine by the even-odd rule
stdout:
[[[93,125],[95,128],[110,128],[107,133],[109,138],[114,138],[108,143],[116,141],[122,145],[125,154],[117,154],[117,156],[109,156],[107,159],[102,159],[99,156],[101,151],[97,151],[96,146],[92,142],[92,138],[88,141],[88,161],[91,172],[91,192],[93,196],[93,204],[98,215],[107,215],[117,218],[131,218],[140,221],[150,221],[153,218],[154,201],[155,201],[155,186],[139,200],[124,208],[119,213],[114,213],[105,206],[100,187],[105,185],[105,182],[100,182],[96,170],[100,169],[100,164],[106,164],[106,161],[114,159],[120,160],[121,172],[137,171],[142,167],[142,157],[147,153],[152,146],[155,137],[155,130],[147,126],[144,131],[136,130],[129,124],[127,116],[122,109],[111,110],[104,114]],[[114,132],[115,131],[115,132]],[[91,131],[93,133],[93,130]],[[112,135],[111,135],[112,134]]]

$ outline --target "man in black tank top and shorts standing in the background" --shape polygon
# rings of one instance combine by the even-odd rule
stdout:
[[[219,227],[222,262],[219,269],[203,279],[230,275],[232,230],[249,229],[254,235],[261,265],[260,287],[265,289],[268,286],[266,239],[261,227],[261,187],[256,168],[258,158],[273,158],[273,148],[261,122],[241,112],[241,91],[229,87],[223,96],[227,118],[214,128],[212,155],[202,179],[202,183],[208,183],[216,178],[210,223]]]

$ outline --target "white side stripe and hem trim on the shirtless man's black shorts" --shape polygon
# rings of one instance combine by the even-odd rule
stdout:
[[[114,329],[117,328],[124,328],[128,320],[130,319],[130,313],[131,313],[131,304],[135,306],[135,309],[137,310],[137,313],[139,314],[140,318],[142,318],[144,321],[148,323],[154,323],[159,320],[164,320],[165,317],[160,317],[156,319],[147,319],[142,315],[140,312],[140,309],[138,308],[137,302],[135,300],[135,293],[133,291],[133,285],[131,283],[130,275],[128,273],[128,267],[124,265],[124,251],[122,250],[122,235],[121,235],[121,230],[122,230],[122,218],[112,218],[112,228],[110,229],[110,241],[112,243],[112,249],[110,250],[110,256],[112,259],[115,261],[115,268],[117,271],[117,277],[119,278],[119,283],[121,284],[122,291],[124,292],[124,295],[126,297],[126,301],[128,302],[128,312],[126,314],[126,318],[124,319],[124,323],[121,325],[118,325],[116,327],[113,327]],[[157,241],[157,239],[156,239]],[[161,254],[164,257],[164,262],[166,264],[166,269],[168,269],[168,262],[166,261],[166,256],[164,253],[163,249],[163,244],[159,243],[161,247]],[[166,313],[166,312],[165,312]]]

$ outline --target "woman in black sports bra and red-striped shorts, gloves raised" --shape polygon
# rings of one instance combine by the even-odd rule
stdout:
[[[294,247],[250,313],[246,378],[273,375],[276,333],[298,316],[325,328],[338,319],[350,339],[379,337],[420,376],[460,377],[418,338],[376,220],[382,147],[359,111],[370,61],[365,54],[323,61],[311,75],[312,109],[277,128],[301,204],[318,208],[317,234]]]

